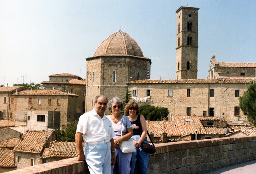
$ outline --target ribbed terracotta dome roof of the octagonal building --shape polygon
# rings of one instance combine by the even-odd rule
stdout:
[[[128,55],[143,57],[143,53],[137,42],[127,33],[119,30],[100,44],[93,57]]]

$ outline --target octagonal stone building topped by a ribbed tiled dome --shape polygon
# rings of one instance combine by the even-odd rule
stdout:
[[[105,39],[86,61],[86,111],[93,108],[96,95],[123,98],[127,82],[150,79],[151,60],[144,57],[136,41],[121,30]]]

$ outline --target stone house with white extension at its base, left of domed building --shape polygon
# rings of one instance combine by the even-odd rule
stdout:
[[[60,129],[75,120],[77,98],[59,89],[20,91],[11,95],[9,119],[29,130]]]

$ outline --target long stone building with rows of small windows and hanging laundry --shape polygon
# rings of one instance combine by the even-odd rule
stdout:
[[[226,120],[247,120],[237,107],[239,96],[247,89],[249,82],[250,80],[191,79],[141,80],[128,84],[131,92],[136,90],[137,96],[133,96],[133,99],[138,99],[139,104],[165,107],[171,115],[190,114],[225,117]],[[146,95],[147,90],[150,91],[150,96]],[[238,96],[235,96],[236,90],[239,90]],[[235,113],[235,107],[238,113]]]

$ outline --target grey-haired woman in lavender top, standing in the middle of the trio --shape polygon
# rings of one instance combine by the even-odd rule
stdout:
[[[118,172],[120,174],[129,174],[131,167],[130,161],[132,153],[123,153],[119,145],[122,141],[127,141],[132,137],[132,124],[128,116],[121,115],[121,109],[123,108],[123,102],[120,98],[114,97],[108,102],[108,109],[111,115],[108,116],[112,122],[112,127],[115,131],[116,136],[114,137],[115,153],[116,153],[116,164],[118,165]],[[123,126],[122,126],[123,123]],[[122,131],[123,127],[123,131]],[[122,132],[122,135],[121,135]],[[112,152],[113,153],[113,152]],[[112,166],[113,174],[114,166]]]

